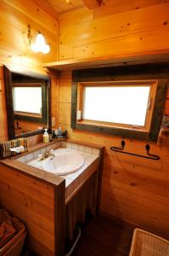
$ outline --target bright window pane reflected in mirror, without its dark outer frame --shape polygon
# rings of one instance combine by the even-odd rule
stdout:
[[[30,99],[30,100],[28,100]],[[14,87],[14,113],[42,116],[42,87]]]

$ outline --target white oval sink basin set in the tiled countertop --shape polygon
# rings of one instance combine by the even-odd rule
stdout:
[[[83,164],[84,160],[81,154],[63,151],[56,153],[52,159],[44,160],[42,168],[57,175],[66,175],[78,171]]]

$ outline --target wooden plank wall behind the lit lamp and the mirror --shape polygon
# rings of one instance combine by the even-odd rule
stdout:
[[[33,53],[27,38],[27,26],[32,34],[41,31],[51,46],[48,55]],[[38,1],[0,1],[0,66],[7,65],[16,72],[45,73],[42,63],[58,59],[58,20],[44,11]],[[0,70],[0,87],[3,86],[3,73]],[[54,86],[53,86],[54,87]],[[1,90],[1,89],[0,89]],[[4,90],[0,92],[0,141],[8,139]],[[53,106],[55,100],[53,96]]]

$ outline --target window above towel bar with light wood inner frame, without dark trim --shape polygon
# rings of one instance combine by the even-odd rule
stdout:
[[[80,83],[78,109],[83,124],[149,131],[156,81]]]

